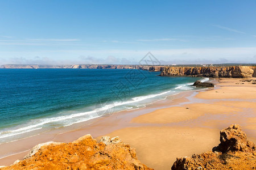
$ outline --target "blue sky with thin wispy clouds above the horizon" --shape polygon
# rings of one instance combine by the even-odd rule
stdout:
[[[0,65],[256,63],[256,1],[2,1]]]

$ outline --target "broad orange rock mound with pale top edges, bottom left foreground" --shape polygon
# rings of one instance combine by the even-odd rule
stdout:
[[[1,169],[1,168],[0,168]],[[134,148],[118,137],[97,142],[85,135],[71,143],[48,142],[32,148],[23,160],[2,169],[151,169]]]

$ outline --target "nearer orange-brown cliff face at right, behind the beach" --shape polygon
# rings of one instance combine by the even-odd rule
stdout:
[[[163,67],[160,76],[204,76],[225,78],[246,78],[255,76],[255,67]]]

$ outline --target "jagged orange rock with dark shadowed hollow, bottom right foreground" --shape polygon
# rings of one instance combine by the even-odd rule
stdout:
[[[221,130],[220,142],[213,151],[177,158],[172,169],[256,169],[256,147],[240,125]]]

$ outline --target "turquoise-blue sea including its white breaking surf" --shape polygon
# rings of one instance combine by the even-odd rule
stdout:
[[[193,90],[191,77],[108,69],[0,69],[0,143]]]

